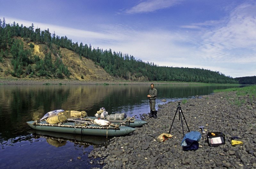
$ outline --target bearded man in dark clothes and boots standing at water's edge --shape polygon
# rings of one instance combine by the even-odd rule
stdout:
[[[157,95],[157,90],[154,88],[154,84],[152,83],[151,89],[148,92],[148,99],[149,99],[149,107],[150,107],[150,115],[149,117],[154,117],[157,118],[157,111],[156,111],[156,95]]]

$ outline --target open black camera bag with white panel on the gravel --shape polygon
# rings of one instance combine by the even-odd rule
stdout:
[[[212,135],[212,133],[214,133],[215,136]],[[209,132],[207,134],[207,143],[211,147],[225,144],[225,134],[222,132]]]

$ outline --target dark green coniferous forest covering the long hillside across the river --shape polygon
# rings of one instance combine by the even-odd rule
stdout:
[[[44,44],[44,58],[33,54],[33,43],[25,48],[23,41],[28,44]],[[32,24],[29,27],[13,22],[6,24],[5,19],[0,19],[0,63],[6,58],[12,60],[12,70],[5,72],[15,77],[48,77],[48,78],[69,78],[68,65],[61,61],[61,48],[67,48],[80,57],[85,57],[94,62],[95,65],[113,77],[125,80],[131,75],[136,79],[147,79],[148,81],[184,81],[184,82],[205,82],[205,83],[238,83],[237,80],[225,76],[220,72],[214,72],[201,68],[187,67],[163,67],[154,63],[136,60],[132,55],[115,52],[111,49],[103,50],[92,48],[91,45],[82,42],[74,43],[71,39],[51,34],[49,29],[40,30]],[[52,54],[58,56],[57,60],[52,59]],[[1,68],[0,68],[1,69]],[[1,71],[1,70],[0,70]]]

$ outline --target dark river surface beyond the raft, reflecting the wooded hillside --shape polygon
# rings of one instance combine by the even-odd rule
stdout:
[[[230,86],[157,86],[157,99],[207,95]],[[19,85],[0,86],[1,137],[17,137],[28,129],[27,121],[55,110],[86,111],[88,116],[104,107],[109,113],[145,103],[150,85]],[[127,112],[125,112],[127,113]]]

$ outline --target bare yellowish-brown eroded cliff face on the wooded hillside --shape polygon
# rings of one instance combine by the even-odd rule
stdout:
[[[17,39],[21,39],[24,43],[24,48],[29,48],[29,44],[32,42],[26,42],[22,38],[17,37]],[[57,59],[62,60],[63,64],[68,67],[69,72],[71,73],[69,79],[79,80],[79,81],[109,81],[113,78],[102,68],[94,64],[92,60],[86,59],[84,57],[79,57],[78,54],[68,50],[66,48],[57,48],[57,46],[53,45],[55,48],[55,52],[50,50],[44,44],[34,44],[33,54],[39,56],[40,59],[44,59],[44,54],[47,52],[51,52],[52,61],[55,62]],[[56,51],[58,51],[56,53]],[[13,66],[11,64],[12,56],[5,57],[3,62],[0,63],[0,77],[3,78],[12,78],[10,74],[13,71]],[[32,64],[32,67],[35,64]],[[9,72],[9,73],[8,73]],[[29,75],[25,74],[20,77],[20,79],[28,79]],[[33,76],[30,79],[44,78]],[[66,77],[64,77],[66,79]]]

